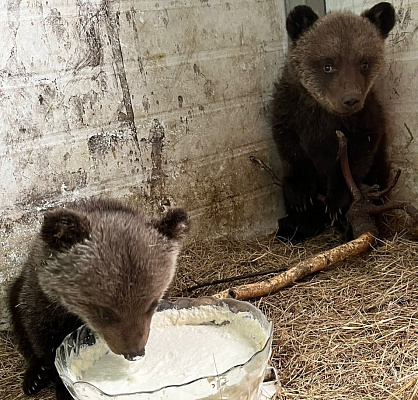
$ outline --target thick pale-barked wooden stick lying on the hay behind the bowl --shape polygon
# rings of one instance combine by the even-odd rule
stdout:
[[[237,286],[219,292],[213,297],[219,299],[232,297],[237,300],[246,300],[255,297],[267,296],[286,286],[289,286],[306,275],[310,275],[314,272],[334,265],[339,261],[343,261],[348,257],[367,251],[375,244],[375,241],[376,239],[371,233],[363,233],[351,242],[334,247],[331,250],[327,250],[307,260],[298,262],[294,267],[282,272],[281,274],[275,275],[266,281]]]

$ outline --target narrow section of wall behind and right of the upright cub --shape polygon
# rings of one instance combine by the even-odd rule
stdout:
[[[361,13],[377,1],[327,0],[327,11]],[[397,23],[387,39],[387,63],[378,83],[390,123],[393,170],[401,169],[392,197],[418,206],[418,1],[396,0]]]

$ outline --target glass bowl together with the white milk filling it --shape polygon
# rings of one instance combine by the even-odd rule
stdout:
[[[162,300],[145,356],[128,361],[82,326],[57,349],[55,365],[74,399],[256,400],[273,324],[234,299]]]

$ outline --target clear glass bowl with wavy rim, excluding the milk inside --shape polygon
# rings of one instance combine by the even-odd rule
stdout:
[[[233,313],[250,313],[259,322],[267,340],[264,347],[255,352],[243,364],[231,367],[222,374],[202,376],[181,385],[168,385],[153,391],[135,393],[106,394],[93,384],[83,381],[71,370],[71,360],[78,357],[80,350],[96,343],[95,334],[86,326],[69,334],[58,347],[55,366],[65,386],[76,400],[119,399],[119,400],[256,400],[259,398],[272,346],[273,324],[252,304],[234,299],[215,299],[213,297],[179,298],[173,301],[162,300],[157,312],[167,309],[187,309],[200,306],[227,307]],[[215,384],[214,384],[215,382]],[[207,391],[202,397],[202,386]],[[214,389],[214,387],[216,389]],[[215,390],[215,391],[214,391]],[[208,395],[206,395],[208,393]]]

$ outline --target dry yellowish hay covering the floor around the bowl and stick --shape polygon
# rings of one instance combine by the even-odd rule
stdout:
[[[207,240],[183,251],[172,296],[211,295],[236,283],[188,287],[239,274],[286,269],[339,244],[327,232],[303,245]],[[405,236],[255,299],[274,322],[277,400],[418,400],[418,254]],[[0,335],[0,399],[19,400],[23,362]],[[51,392],[33,399],[52,399]]]

